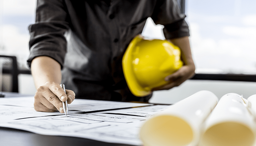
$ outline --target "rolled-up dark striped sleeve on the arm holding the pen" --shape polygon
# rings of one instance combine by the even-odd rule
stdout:
[[[66,53],[64,33],[68,30],[64,9],[61,0],[37,1],[36,23],[29,26],[29,67],[37,56],[49,56],[63,66]]]

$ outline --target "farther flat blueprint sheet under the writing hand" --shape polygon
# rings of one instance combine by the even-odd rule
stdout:
[[[147,106],[152,104],[140,103],[125,103],[125,102],[111,102],[111,101],[95,101],[75,99],[68,105],[68,113],[75,113],[79,111],[93,112],[110,109],[123,109],[131,107]],[[34,97],[17,97],[17,98],[1,98],[0,99],[0,122],[25,118],[38,117],[47,115],[62,115],[59,111],[56,112],[37,112],[34,109]]]

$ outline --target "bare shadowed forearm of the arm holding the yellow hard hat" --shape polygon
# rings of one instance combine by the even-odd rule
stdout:
[[[189,37],[181,37],[170,40],[173,44],[177,45],[181,49],[181,59],[185,65],[192,65],[194,67],[194,62],[192,59],[192,53],[189,43]]]

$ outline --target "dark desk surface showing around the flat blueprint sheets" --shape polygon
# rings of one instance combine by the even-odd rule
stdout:
[[[24,97],[18,93],[3,92],[5,97]],[[1,146],[131,146],[126,144],[114,144],[91,139],[68,137],[68,136],[49,136],[36,134],[24,130],[0,127]]]

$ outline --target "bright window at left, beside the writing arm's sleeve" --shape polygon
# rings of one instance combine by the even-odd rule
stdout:
[[[28,26],[35,22],[36,0],[0,0],[0,54],[17,57],[20,69],[27,69]]]

